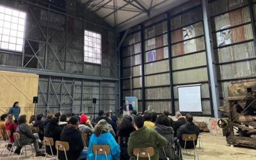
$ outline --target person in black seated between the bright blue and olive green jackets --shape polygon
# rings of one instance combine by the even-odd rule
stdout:
[[[120,158],[122,160],[129,160],[129,155],[127,152],[127,143],[130,137],[130,134],[135,131],[135,128],[132,125],[131,116],[125,115],[123,120],[119,125],[119,133],[118,133],[118,143],[120,145]]]

